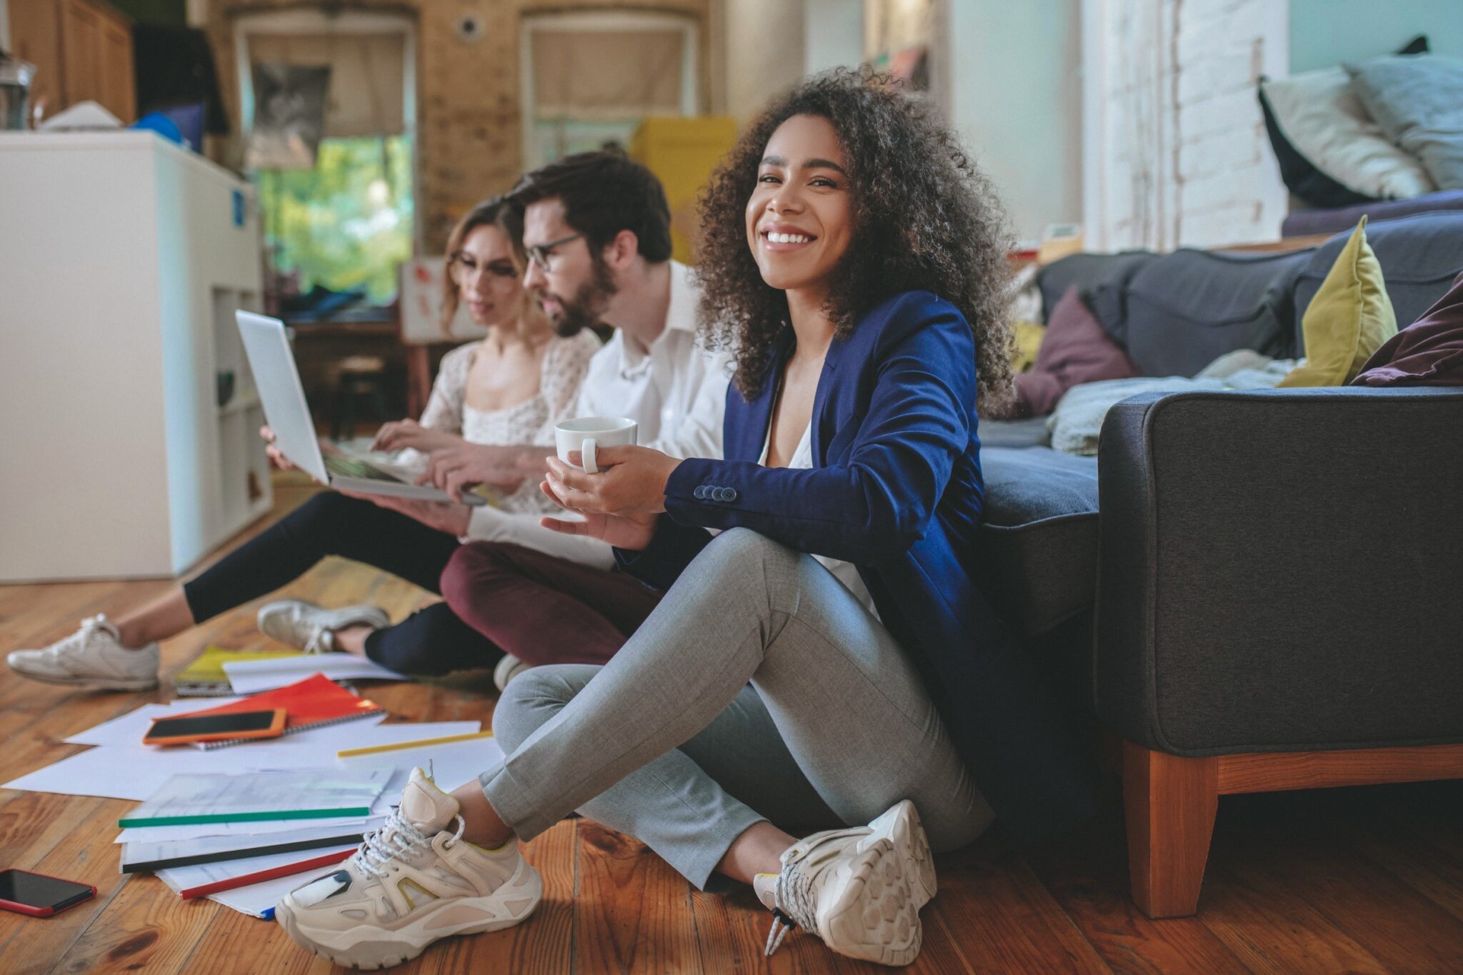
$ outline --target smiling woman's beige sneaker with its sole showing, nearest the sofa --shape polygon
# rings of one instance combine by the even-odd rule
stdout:
[[[813,833],[781,860],[781,873],[752,880],[772,912],[767,955],[796,925],[849,957],[909,965],[919,956],[919,911],[935,896],[935,865],[913,803],[868,826]]]

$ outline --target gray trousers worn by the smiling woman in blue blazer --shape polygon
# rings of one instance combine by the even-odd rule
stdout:
[[[761,820],[853,826],[909,798],[942,851],[993,819],[888,630],[815,558],[745,528],[604,667],[514,678],[493,728],[508,757],[478,781],[521,839],[578,810],[698,887]]]

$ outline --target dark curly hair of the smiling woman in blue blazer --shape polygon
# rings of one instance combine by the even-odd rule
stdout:
[[[849,69],[815,75],[774,101],[701,193],[701,322],[714,345],[733,349],[737,390],[748,399],[761,392],[787,327],[787,295],[762,281],[745,212],[767,142],[793,115],[827,118],[849,171],[854,234],[825,306],[835,338],[885,298],[932,291],[970,323],[983,406],[1004,403],[1009,240],[995,190],[928,104]]]

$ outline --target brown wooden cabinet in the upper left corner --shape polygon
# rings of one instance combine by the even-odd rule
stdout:
[[[101,0],[22,0],[10,4],[10,47],[37,66],[31,104],[45,114],[95,101],[130,124],[138,117],[132,22]]]

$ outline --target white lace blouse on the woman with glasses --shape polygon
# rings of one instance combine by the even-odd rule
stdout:
[[[474,409],[467,405],[467,376],[480,342],[461,345],[442,357],[432,396],[421,412],[421,425],[455,433],[468,443],[499,446],[554,444],[554,424],[573,414],[579,383],[590,368],[590,358],[600,351],[600,339],[588,329],[573,338],[554,336],[544,351],[538,393],[503,409]],[[538,491],[537,482],[524,481],[505,496],[500,510],[514,513],[547,512],[553,507]]]

